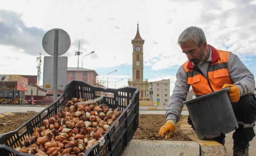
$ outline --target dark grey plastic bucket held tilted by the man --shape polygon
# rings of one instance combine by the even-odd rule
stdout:
[[[238,128],[230,98],[225,88],[184,101],[199,139],[210,139]]]

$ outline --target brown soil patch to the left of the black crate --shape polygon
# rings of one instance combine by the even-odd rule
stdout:
[[[25,113],[14,113],[14,114],[15,115],[13,115],[13,116],[8,115],[6,117],[0,118],[0,134],[4,134],[7,132],[16,130],[18,127],[20,127],[23,123],[28,121],[30,118],[32,118],[37,113],[36,112],[25,112]],[[7,124],[5,125],[3,123],[7,123]],[[19,131],[19,134],[25,130],[26,130],[26,128],[22,128],[22,130]]]

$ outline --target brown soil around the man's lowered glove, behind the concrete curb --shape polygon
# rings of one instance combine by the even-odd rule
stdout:
[[[181,119],[187,118],[188,115],[181,115]],[[175,132],[170,139],[161,138],[158,134],[159,129],[165,123],[165,115],[156,114],[140,114],[139,127],[137,128],[132,139],[145,140],[169,140],[169,141],[191,141],[186,135],[180,131],[179,122],[175,125]]]

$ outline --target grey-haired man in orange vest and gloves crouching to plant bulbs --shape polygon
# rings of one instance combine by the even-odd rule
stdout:
[[[188,61],[177,71],[173,94],[166,107],[166,123],[160,128],[159,134],[162,137],[168,134],[168,138],[172,136],[190,85],[196,96],[230,87],[228,95],[239,124],[233,134],[234,156],[248,156],[249,141],[255,136],[253,127],[256,103],[253,74],[235,54],[207,45],[205,34],[200,28],[190,26],[185,29],[178,38],[178,44]],[[188,122],[194,129],[190,117]],[[224,145],[224,138],[223,134],[213,139]]]

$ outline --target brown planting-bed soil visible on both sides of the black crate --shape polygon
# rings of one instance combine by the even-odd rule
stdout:
[[[28,121],[36,112],[24,112],[14,113],[15,115],[0,118],[0,134],[4,134],[10,131],[16,130],[23,123]],[[181,119],[187,118],[187,115],[181,115]],[[7,124],[3,124],[7,123]],[[176,123],[175,132],[170,139],[161,138],[158,131],[165,123],[165,115],[156,114],[140,114],[139,115],[139,127],[135,132],[133,139],[145,139],[145,140],[170,140],[170,141],[191,141],[179,130],[179,122]],[[22,128],[18,133],[22,133],[26,128]]]

